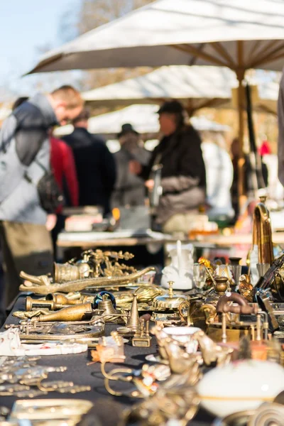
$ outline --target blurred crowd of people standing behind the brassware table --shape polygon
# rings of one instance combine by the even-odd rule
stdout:
[[[239,142],[232,142],[231,153],[222,136],[204,134],[202,142],[178,101],[165,102],[158,116],[162,137],[153,152],[126,123],[117,135],[120,150],[112,154],[102,138],[89,133],[89,111],[73,87],[15,102],[0,133],[4,305],[16,297],[21,271],[52,270],[63,205],[101,206],[107,217],[114,207],[145,206],[150,198],[153,228],[168,234],[187,234],[204,212],[234,224]],[[67,123],[72,133],[56,138],[55,127]],[[262,156],[269,153],[268,142],[262,149]],[[246,185],[249,165],[246,158]],[[264,163],[262,175],[266,186]]]

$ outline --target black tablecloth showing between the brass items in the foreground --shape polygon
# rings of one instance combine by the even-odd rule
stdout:
[[[23,310],[25,304],[26,295],[21,294],[13,307],[12,312],[7,318],[5,324],[18,324],[18,318],[13,317],[12,313],[16,310]],[[116,325],[107,324],[106,334],[109,335],[113,329],[116,329]],[[133,347],[131,343],[125,344],[125,355],[126,361],[120,366],[129,366],[131,368],[140,368],[145,363],[145,356],[148,354],[156,354],[157,347],[155,339],[151,341],[150,348],[139,348]],[[0,354],[1,356],[1,354]],[[104,377],[101,373],[101,364],[96,363],[87,366],[87,363],[91,360],[89,351],[84,354],[71,354],[71,355],[56,355],[56,356],[42,356],[38,360],[37,364],[43,366],[66,366],[67,371],[63,373],[50,373],[48,380],[64,380],[72,381],[76,385],[88,385],[91,386],[91,391],[76,393],[72,395],[70,393],[57,393],[50,392],[48,395],[41,396],[39,398],[79,398],[87,399],[94,403],[94,408],[89,415],[84,417],[84,422],[88,426],[115,426],[118,423],[119,416],[121,415],[124,408],[129,407],[131,404],[138,402],[138,399],[126,398],[126,397],[115,397],[109,395],[104,388]],[[107,368],[107,367],[106,367]],[[114,364],[109,364],[109,369],[114,368]],[[115,384],[116,385],[116,384]],[[115,385],[113,386],[115,388]],[[121,388],[121,383],[119,383]],[[130,386],[131,385],[127,385]],[[16,400],[13,396],[1,396],[0,405],[6,405],[11,408],[14,401]],[[97,422],[95,421],[97,419]],[[212,424],[213,417],[204,413],[200,410],[195,417],[195,420],[190,422],[192,426],[208,426]]]

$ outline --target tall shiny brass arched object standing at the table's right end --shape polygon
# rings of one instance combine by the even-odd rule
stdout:
[[[258,263],[269,263],[274,260],[271,219],[266,207],[266,197],[260,197],[261,202],[253,212],[253,244],[258,246]]]

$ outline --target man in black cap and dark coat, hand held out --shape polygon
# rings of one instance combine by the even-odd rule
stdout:
[[[165,102],[158,114],[164,136],[153,151],[148,166],[132,161],[130,170],[141,175],[146,180],[146,187],[153,190],[153,167],[163,166],[163,195],[155,212],[155,223],[170,234],[186,234],[206,197],[201,139],[191,125],[185,124],[185,111],[180,102]]]

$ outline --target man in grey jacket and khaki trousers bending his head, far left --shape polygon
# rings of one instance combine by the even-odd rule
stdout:
[[[40,205],[38,181],[50,170],[48,130],[82,110],[80,93],[62,86],[36,94],[4,121],[0,133],[0,239],[4,256],[5,303],[18,293],[19,273],[52,271],[53,249]]]

